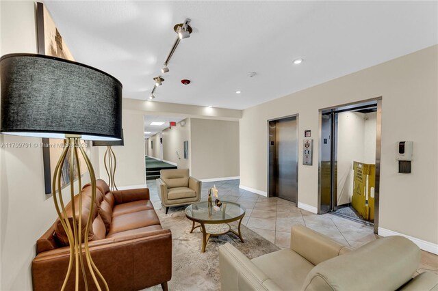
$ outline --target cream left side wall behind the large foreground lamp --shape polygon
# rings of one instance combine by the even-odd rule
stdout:
[[[35,14],[33,1],[0,1],[0,55],[37,52]],[[0,143],[40,142],[0,135]],[[99,176],[97,151],[90,150]],[[89,174],[84,175],[82,182],[89,181]],[[0,192],[0,290],[31,290],[36,240],[57,218],[53,199],[44,193],[41,148],[0,148]],[[69,187],[62,193],[69,202]]]

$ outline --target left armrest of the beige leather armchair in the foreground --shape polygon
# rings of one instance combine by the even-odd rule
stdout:
[[[219,247],[219,268],[222,290],[281,290],[230,243]]]

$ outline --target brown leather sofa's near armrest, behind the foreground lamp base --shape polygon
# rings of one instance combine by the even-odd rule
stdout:
[[[142,290],[170,281],[172,277],[170,230],[96,240],[90,242],[90,253],[113,290]],[[60,290],[69,256],[69,247],[39,253],[32,262],[34,290]],[[74,282],[74,276],[73,271],[70,283]],[[91,277],[88,279],[92,281]]]

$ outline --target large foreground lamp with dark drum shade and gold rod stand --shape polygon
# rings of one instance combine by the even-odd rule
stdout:
[[[75,290],[79,290],[79,275],[88,290],[86,267],[96,288],[107,283],[94,264],[88,248],[88,230],[92,226],[92,213],[84,227],[81,219],[81,173],[79,153],[90,171],[92,195],[96,197],[94,169],[85,150],[84,140],[120,140],[122,136],[122,84],[109,74],[90,66],[45,55],[11,54],[0,59],[1,109],[0,133],[27,137],[64,139],[64,148],[55,167],[52,179],[53,202],[57,215],[68,236],[70,260],[61,290],[75,264]],[[70,159],[70,199],[75,196],[74,170],[77,167],[79,200],[71,204],[68,219],[61,193],[64,163]],[[94,208],[94,203],[91,204]],[[83,230],[85,229],[85,232]],[[85,235],[83,235],[83,233]],[[82,247],[83,242],[83,247]],[[83,262],[83,255],[86,262]],[[81,271],[79,271],[79,266]],[[100,282],[99,282],[99,279]]]

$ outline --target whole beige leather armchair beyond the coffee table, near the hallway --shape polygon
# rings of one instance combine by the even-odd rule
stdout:
[[[201,181],[189,176],[189,169],[163,169],[157,179],[158,197],[169,207],[192,204],[201,200]]]

